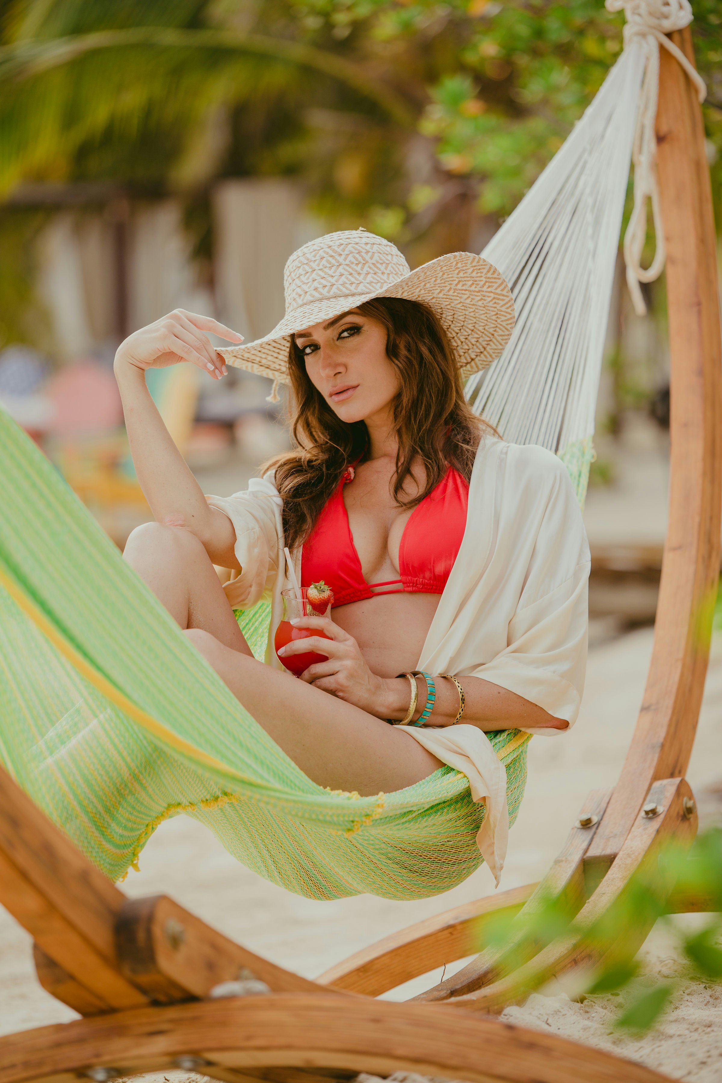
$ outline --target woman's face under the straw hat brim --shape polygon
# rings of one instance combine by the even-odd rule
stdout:
[[[383,324],[352,309],[294,337],[309,379],[342,421],[386,410],[401,380],[386,355]]]

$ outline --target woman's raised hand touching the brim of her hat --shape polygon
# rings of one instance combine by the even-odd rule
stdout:
[[[220,380],[227,373],[223,358],[215,352],[206,331],[213,331],[228,342],[242,342],[244,336],[232,331],[210,316],[197,316],[175,309],[155,324],[141,327],[120,343],[116,365],[127,363],[145,371],[167,368],[189,361]]]

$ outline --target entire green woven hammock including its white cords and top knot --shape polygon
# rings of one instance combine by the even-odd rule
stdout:
[[[635,140],[640,199],[656,199],[648,132],[658,35],[691,15],[686,0],[623,6],[631,29],[621,56],[484,252],[512,286],[517,324],[502,357],[468,384],[474,408],[507,440],[560,455],[580,501]],[[100,869],[123,875],[155,827],[180,812],[260,875],[315,899],[424,898],[478,867],[485,809],[463,774],[445,767],[365,797],[313,783],[2,409],[0,462],[0,764]],[[261,601],[237,614],[257,657],[270,612]],[[513,823],[528,736],[488,736],[506,767]]]

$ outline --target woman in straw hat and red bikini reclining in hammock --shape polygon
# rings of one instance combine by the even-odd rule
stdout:
[[[284,321],[249,345],[216,351],[207,332],[241,337],[182,311],[120,345],[128,434],[156,518],[126,559],[313,781],[376,794],[442,764],[468,774],[497,872],[506,806],[484,731],[575,721],[589,573],[562,464],[504,444],[464,401],[462,375],[511,335],[509,288],[480,257],[411,273],[389,242],[347,231],[291,257],[286,301]],[[288,380],[299,449],[247,492],[206,498],[145,384],[147,368],[181,361],[214,379],[231,361]],[[271,665],[252,656],[232,609],[271,596],[272,643],[290,585],[285,545],[303,586],[324,579],[336,595],[330,618],[302,622],[330,640],[285,648],[328,657],[301,680],[271,647]],[[213,564],[236,573],[225,589]]]

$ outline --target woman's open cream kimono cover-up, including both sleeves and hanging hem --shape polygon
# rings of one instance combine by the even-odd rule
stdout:
[[[286,586],[281,498],[271,475],[229,497],[207,497],[236,530],[239,575],[226,584],[235,609],[272,601],[266,662],[283,668],[273,636]],[[300,579],[301,549],[293,556]],[[416,668],[481,677],[573,726],[587,662],[589,546],[566,468],[536,445],[485,438],[469,486],[461,548]],[[486,734],[475,726],[408,728],[442,762],[468,778],[484,801],[480,850],[497,883],[507,851],[507,779]],[[557,736],[562,730],[529,730]]]

